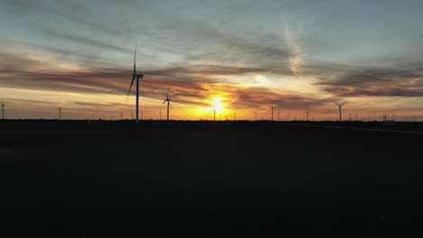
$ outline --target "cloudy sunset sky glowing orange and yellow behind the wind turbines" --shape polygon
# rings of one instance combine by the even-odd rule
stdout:
[[[0,0],[7,118],[423,120],[416,0]]]

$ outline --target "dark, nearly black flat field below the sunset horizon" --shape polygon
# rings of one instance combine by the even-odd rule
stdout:
[[[423,134],[271,122],[5,122],[0,134],[16,237],[421,237]]]

